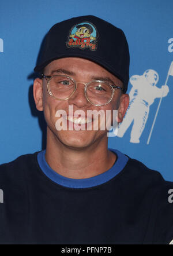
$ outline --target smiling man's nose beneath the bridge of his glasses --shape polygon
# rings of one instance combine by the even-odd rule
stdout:
[[[84,83],[77,83],[76,92],[74,92],[72,97],[69,98],[69,105],[73,104],[79,108],[85,107],[86,105],[87,107],[91,105],[91,103],[89,103],[89,101],[85,97],[84,87]]]

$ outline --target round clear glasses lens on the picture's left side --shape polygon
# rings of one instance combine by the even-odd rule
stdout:
[[[52,96],[65,99],[74,92],[75,84],[72,79],[66,76],[53,76],[50,79],[50,92]]]

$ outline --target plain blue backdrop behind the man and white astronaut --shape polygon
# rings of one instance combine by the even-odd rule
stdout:
[[[173,60],[172,0],[31,0],[1,2],[0,9],[0,164],[44,147],[42,127],[32,98],[32,72],[40,44],[52,25],[70,17],[93,14],[122,28],[129,42],[130,77],[154,70],[157,87],[166,82]],[[109,39],[108,39],[109,40]],[[173,70],[172,70],[173,72]],[[153,127],[159,98],[150,106],[139,143],[130,142],[133,123],[122,138],[109,138],[109,147],[141,160],[173,181],[172,94],[173,76],[168,76],[170,92],[163,97]],[[129,82],[130,92],[132,88]]]

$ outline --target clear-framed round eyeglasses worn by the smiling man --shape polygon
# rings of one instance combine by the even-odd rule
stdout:
[[[42,74],[42,78],[46,78],[48,93],[56,100],[68,100],[76,91],[77,83],[81,83],[66,75],[48,76]],[[85,85],[86,100],[95,106],[107,105],[112,100],[115,90],[121,89],[123,91],[122,87],[110,85],[110,83],[100,80],[82,84]]]

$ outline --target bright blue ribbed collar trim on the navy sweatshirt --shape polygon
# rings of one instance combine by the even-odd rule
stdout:
[[[110,151],[116,153],[117,159],[111,169],[96,175],[91,178],[84,179],[73,179],[63,177],[58,174],[56,171],[52,170],[51,167],[47,164],[45,159],[46,150],[40,151],[37,153],[37,162],[39,163],[40,169],[50,180],[56,182],[59,185],[66,186],[68,188],[91,188],[92,186],[101,185],[112,178],[114,178],[120,171],[123,170],[129,158],[123,153],[116,149],[110,149]]]

